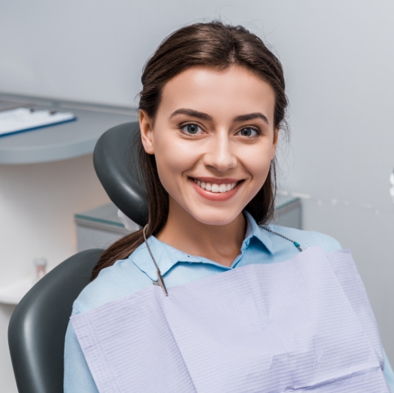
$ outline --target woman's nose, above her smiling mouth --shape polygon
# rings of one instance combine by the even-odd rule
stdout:
[[[213,167],[220,172],[236,167],[237,159],[232,151],[227,130],[217,132],[212,136],[207,147],[204,154],[204,165]]]

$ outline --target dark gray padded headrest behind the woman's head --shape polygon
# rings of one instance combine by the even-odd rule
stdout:
[[[140,226],[148,221],[145,187],[134,136],[139,134],[137,122],[124,123],[105,132],[96,143],[93,163],[110,200]]]

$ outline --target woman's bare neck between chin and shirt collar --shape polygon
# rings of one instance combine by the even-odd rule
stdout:
[[[170,197],[167,223],[156,237],[186,254],[230,266],[241,252],[245,232],[246,220],[243,213],[229,224],[202,224]]]

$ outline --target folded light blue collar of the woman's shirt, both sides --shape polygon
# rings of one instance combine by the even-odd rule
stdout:
[[[269,253],[273,254],[272,241],[267,235],[267,232],[258,226],[254,218],[251,217],[250,213],[243,211],[243,214],[245,215],[247,228],[245,239],[243,240],[241,246],[241,254],[247,250],[249,243],[253,238],[258,239],[258,241],[260,241],[262,245],[267,248]],[[164,274],[166,274],[171,269],[171,267],[173,267],[178,262],[193,263],[208,261],[205,258],[196,257],[194,255],[186,254],[185,252],[177,250],[166,243],[162,243],[162,241],[156,239],[154,236],[149,237],[147,241],[153,257],[160,268],[162,276],[164,276]],[[145,242],[136,248],[136,250],[130,255],[129,259],[135,265],[137,265],[141,271],[145,272],[145,274],[147,274],[151,280],[156,281],[158,279],[156,266],[151,259]]]

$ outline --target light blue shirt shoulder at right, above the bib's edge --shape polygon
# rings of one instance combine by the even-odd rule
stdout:
[[[295,228],[288,228],[286,226],[279,225],[267,225],[267,228],[274,230],[280,235],[288,237],[293,241],[297,241],[301,245],[302,248],[306,248],[306,244],[310,247],[321,246],[324,252],[332,252],[336,250],[342,250],[341,244],[328,235],[324,235],[323,233],[315,232],[312,230],[300,230]],[[261,228],[261,230],[264,230]],[[275,235],[268,233],[273,242],[278,242],[278,239],[275,238]],[[276,235],[278,237],[278,235]]]

